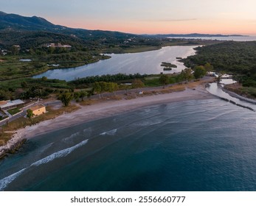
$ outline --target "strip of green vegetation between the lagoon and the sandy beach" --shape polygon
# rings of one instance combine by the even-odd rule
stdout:
[[[195,76],[196,77],[196,76]],[[72,93],[69,98],[83,99],[93,93],[113,92],[131,88],[165,86],[176,82],[188,81],[195,78],[192,70],[187,68],[181,74],[114,74],[75,79],[71,82],[58,79],[12,79],[0,82],[0,100],[4,99],[30,99],[48,98],[49,96],[61,96],[63,93]],[[100,82],[99,84],[97,82]],[[129,84],[127,84],[129,83]],[[97,85],[98,84],[98,85]],[[78,90],[78,91],[77,91]],[[78,93],[77,93],[78,92]]]

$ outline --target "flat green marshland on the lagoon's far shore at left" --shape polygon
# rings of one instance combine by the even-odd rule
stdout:
[[[32,77],[49,69],[75,67],[94,63],[106,58],[108,58],[108,56],[84,51],[66,51],[61,54],[7,55],[1,57],[0,81]],[[22,62],[21,59],[30,59],[32,61]]]

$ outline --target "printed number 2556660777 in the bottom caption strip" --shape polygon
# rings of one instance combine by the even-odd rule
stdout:
[[[184,202],[186,196],[139,196],[139,202],[141,203],[162,203],[162,202]]]

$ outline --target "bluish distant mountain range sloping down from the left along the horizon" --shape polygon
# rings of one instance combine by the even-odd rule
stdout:
[[[96,43],[118,44],[131,38],[167,38],[167,37],[226,37],[234,35],[134,35],[124,32],[111,32],[89,29],[72,29],[52,24],[44,18],[25,17],[0,11],[0,47],[19,44],[25,48],[40,46],[43,43],[63,42],[72,46],[88,46]],[[235,35],[240,36],[240,35]]]

